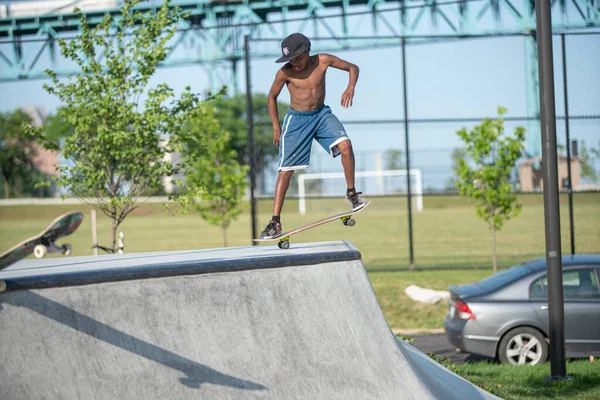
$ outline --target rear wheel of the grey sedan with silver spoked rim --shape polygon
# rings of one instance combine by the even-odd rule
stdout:
[[[536,329],[515,328],[500,341],[498,359],[513,365],[543,364],[548,359],[548,343]]]

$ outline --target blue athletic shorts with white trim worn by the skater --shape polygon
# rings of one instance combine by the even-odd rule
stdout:
[[[338,143],[350,140],[329,106],[305,112],[289,109],[281,127],[278,171],[308,168],[313,139],[332,157],[340,154]]]

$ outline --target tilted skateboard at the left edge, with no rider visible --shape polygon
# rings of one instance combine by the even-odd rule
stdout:
[[[36,258],[42,258],[48,253],[61,252],[65,256],[71,254],[72,246],[64,244],[57,245],[55,242],[68,236],[81,225],[83,214],[80,212],[63,214],[57,217],[39,234],[23,240],[13,248],[0,254],[0,270],[29,256],[31,253]]]

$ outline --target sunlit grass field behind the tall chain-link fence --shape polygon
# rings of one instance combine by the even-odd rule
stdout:
[[[368,209],[356,216],[348,228],[333,222],[300,233],[294,242],[348,240],[362,253],[367,268],[405,269],[409,265],[408,218],[402,198],[373,198]],[[508,221],[498,233],[498,262],[509,266],[544,254],[544,213],[541,195],[521,196],[521,215]],[[269,220],[271,201],[259,203],[259,230]],[[284,229],[301,226],[344,210],[343,199],[310,200],[307,214],[298,214],[296,200],[288,200],[282,215]],[[0,251],[38,233],[54,217],[68,211],[82,211],[82,226],[69,237],[74,255],[91,254],[90,207],[87,205],[0,206]],[[576,251],[600,252],[600,194],[575,195]],[[568,208],[561,197],[563,251],[569,252]],[[100,244],[109,241],[110,220],[98,212]],[[223,246],[222,232],[197,215],[172,216],[160,204],[146,204],[135,210],[121,225],[127,252],[183,250]],[[491,235],[476,217],[474,207],[459,196],[424,198],[424,211],[413,218],[414,255],[417,268],[481,267],[491,265]],[[229,229],[230,246],[251,244],[249,212]]]

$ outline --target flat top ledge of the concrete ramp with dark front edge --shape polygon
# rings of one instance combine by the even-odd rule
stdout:
[[[360,260],[349,242],[24,260],[0,271],[6,291]]]

